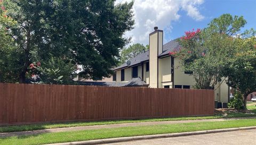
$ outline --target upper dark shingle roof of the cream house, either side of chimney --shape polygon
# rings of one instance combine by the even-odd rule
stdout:
[[[163,45],[163,53],[159,54],[158,57],[168,55],[170,51],[179,50],[179,47],[180,47],[180,45],[177,42],[177,39],[174,39],[173,41],[170,41]],[[143,53],[137,55],[135,58],[131,59],[130,61],[131,61],[130,66],[138,65],[139,63],[141,63],[143,61],[149,61],[149,51],[146,51],[146,52],[143,52]],[[126,67],[128,67],[128,66],[125,62],[123,65],[114,68],[114,70],[126,68]]]

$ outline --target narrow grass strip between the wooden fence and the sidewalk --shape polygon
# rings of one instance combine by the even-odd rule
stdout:
[[[256,107],[255,107],[254,103],[248,103],[247,108],[252,110],[252,112],[256,113]],[[104,121],[104,122],[73,122],[73,123],[55,123],[55,124],[14,125],[14,126],[2,126],[2,127],[0,127],[0,132],[31,131],[31,130],[43,130],[43,129],[49,129],[49,128],[107,125],[107,124],[121,124],[121,123],[162,122],[162,121],[174,121],[174,120],[217,119],[217,118],[252,117],[252,116],[256,116],[256,115],[228,112],[227,116],[215,115],[215,116],[202,116],[202,117],[174,117],[174,118],[138,119],[138,120],[112,120],[112,121]]]

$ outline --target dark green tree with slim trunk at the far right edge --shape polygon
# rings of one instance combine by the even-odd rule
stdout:
[[[243,107],[246,109],[247,96],[256,91],[256,38],[237,38],[234,57],[223,69],[223,76],[228,78],[229,86],[244,95]]]

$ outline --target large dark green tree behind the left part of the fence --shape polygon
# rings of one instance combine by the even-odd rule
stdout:
[[[50,62],[52,57],[71,62],[74,68],[82,66],[79,75],[85,78],[109,76],[119,49],[129,41],[123,34],[134,24],[133,2],[5,0],[4,4],[17,21],[10,36],[18,46],[15,67],[20,83],[25,82],[31,63]]]

